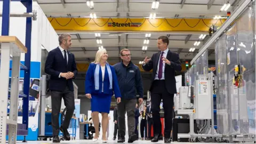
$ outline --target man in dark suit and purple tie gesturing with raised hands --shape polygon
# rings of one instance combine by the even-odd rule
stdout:
[[[157,47],[161,52],[153,54],[151,59],[146,57],[142,65],[145,71],[153,69],[152,82],[149,89],[155,134],[155,137],[151,140],[152,142],[157,142],[161,133],[159,106],[162,99],[165,122],[164,142],[171,142],[173,97],[174,93],[177,93],[175,71],[181,71],[181,63],[179,54],[171,52],[167,47],[168,45],[169,38],[167,36],[158,37]]]

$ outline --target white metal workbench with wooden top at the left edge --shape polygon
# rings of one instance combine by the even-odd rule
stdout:
[[[27,48],[15,36],[0,36],[1,65],[0,65],[0,143],[16,143],[17,117],[20,78],[20,53],[26,53]],[[10,119],[7,118],[7,103],[9,93],[10,56],[12,56],[12,77],[10,97]],[[6,133],[6,124],[9,133]]]

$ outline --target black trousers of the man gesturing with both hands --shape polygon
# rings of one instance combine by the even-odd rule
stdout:
[[[164,108],[164,136],[170,137],[172,130],[172,111],[174,94],[169,93],[165,88],[164,80],[155,80],[151,90],[151,109],[154,121],[154,134],[161,135],[160,104],[163,100]]]

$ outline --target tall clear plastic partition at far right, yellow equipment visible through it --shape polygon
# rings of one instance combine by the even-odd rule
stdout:
[[[255,134],[255,21],[252,7],[215,45],[217,125],[223,135]]]

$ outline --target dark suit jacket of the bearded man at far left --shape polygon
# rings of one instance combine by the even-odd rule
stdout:
[[[44,71],[46,74],[51,75],[49,80],[49,90],[64,91],[68,85],[70,91],[74,91],[72,79],[66,79],[59,77],[60,73],[67,73],[71,71],[74,73],[74,77],[78,74],[76,68],[75,56],[68,51],[68,65],[64,64],[64,57],[57,47],[50,51],[47,55]]]

